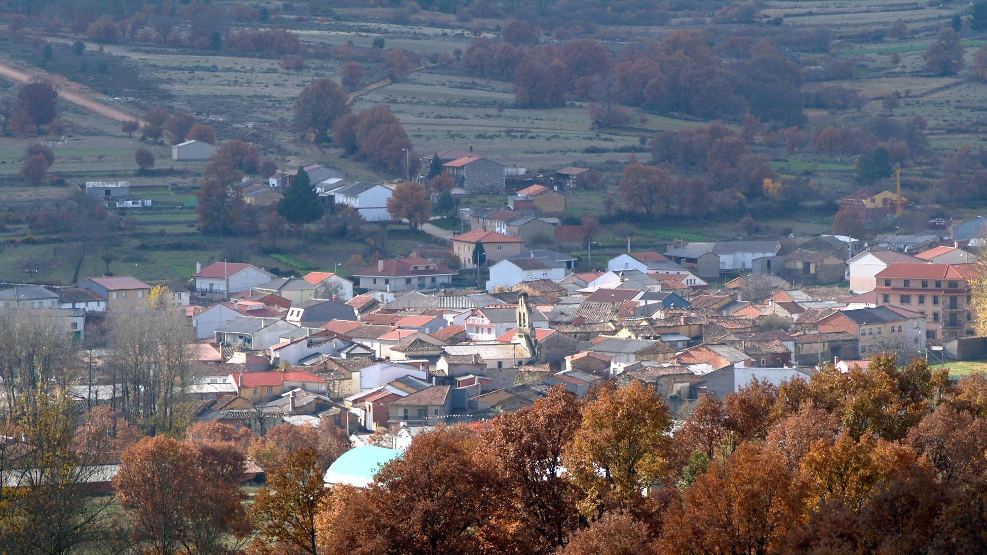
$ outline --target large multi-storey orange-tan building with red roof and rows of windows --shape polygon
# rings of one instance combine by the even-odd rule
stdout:
[[[967,280],[977,275],[972,264],[894,263],[877,273],[877,306],[904,308],[926,315],[930,345],[973,335],[973,307]]]

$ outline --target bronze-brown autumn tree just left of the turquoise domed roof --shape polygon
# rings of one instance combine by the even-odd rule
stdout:
[[[283,465],[267,470],[267,485],[254,496],[250,509],[259,536],[256,541],[281,546],[282,552],[319,555],[315,519],[327,490],[317,459],[315,449],[305,447],[289,453]]]

